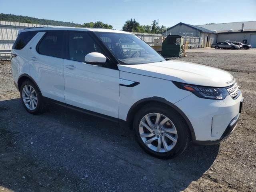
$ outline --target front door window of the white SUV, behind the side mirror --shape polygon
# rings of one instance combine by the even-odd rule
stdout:
[[[103,53],[87,32],[69,33],[69,59],[84,62],[84,56],[91,52]]]

